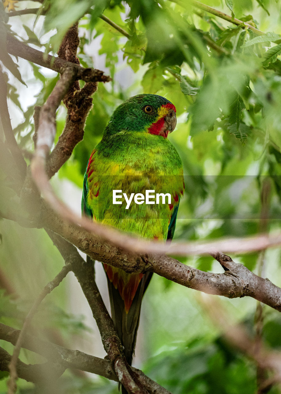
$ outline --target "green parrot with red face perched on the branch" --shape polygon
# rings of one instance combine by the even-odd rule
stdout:
[[[172,239],[184,191],[181,160],[167,139],[175,127],[176,108],[164,97],[142,94],[118,106],[89,158],[83,214],[139,238]],[[152,273],[129,274],[108,264],[104,269],[111,316],[131,365]]]

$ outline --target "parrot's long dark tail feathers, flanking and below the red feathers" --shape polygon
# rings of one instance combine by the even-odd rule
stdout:
[[[125,310],[125,304],[118,289],[115,289],[113,283],[107,277],[111,317],[121,343],[124,346],[124,355],[129,365],[131,365],[133,360],[137,340],[141,301],[151,277],[152,272],[147,272],[142,276],[128,313]],[[123,386],[122,394],[128,394]]]

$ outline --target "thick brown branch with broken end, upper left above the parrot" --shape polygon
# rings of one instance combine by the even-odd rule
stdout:
[[[63,73],[65,69],[70,67],[76,72],[76,79],[85,82],[109,82],[111,78],[104,75],[103,71],[96,69],[84,69],[78,64],[68,62],[66,60],[56,58],[55,56],[46,55],[37,49],[18,41],[11,35],[7,36],[7,50],[9,54],[19,56],[20,58],[31,61],[32,63],[46,67],[59,73]]]

